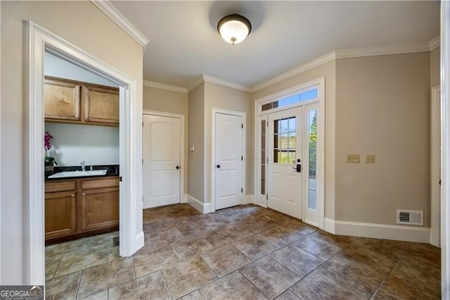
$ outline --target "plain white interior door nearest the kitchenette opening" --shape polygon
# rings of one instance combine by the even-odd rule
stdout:
[[[180,203],[181,120],[143,115],[143,208]]]

